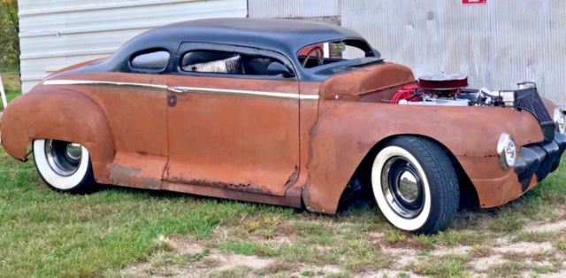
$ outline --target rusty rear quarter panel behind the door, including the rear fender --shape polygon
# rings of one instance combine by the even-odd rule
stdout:
[[[41,128],[41,132],[28,135],[30,140],[52,138],[85,145],[92,156],[98,182],[160,189],[167,163],[165,78],[134,73],[63,73],[57,75],[57,79],[45,81],[32,93],[21,97],[24,100],[27,96],[37,97],[37,103],[26,109],[37,111],[39,117],[45,118],[27,119],[27,128]],[[119,86],[112,82],[162,84],[163,88]],[[57,104],[49,103],[53,94],[60,96]],[[89,105],[77,100],[83,98],[88,99]],[[98,116],[92,116],[93,113]],[[50,124],[44,123],[46,119],[51,120]],[[85,124],[90,121],[105,126]],[[6,122],[13,123],[12,120]],[[12,131],[7,132],[10,133]],[[103,137],[97,139],[99,136]],[[8,136],[7,140],[10,140]],[[17,141],[20,143],[20,140]],[[11,142],[6,145],[10,148]]]

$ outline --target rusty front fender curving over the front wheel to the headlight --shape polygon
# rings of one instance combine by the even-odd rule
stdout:
[[[440,142],[463,162],[471,179],[501,177],[506,173],[497,165],[475,165],[473,161],[496,161],[496,146],[503,132],[512,135],[518,146],[543,140],[539,123],[530,113],[501,107],[323,101],[312,130],[303,201],[311,211],[335,212],[363,158],[376,144],[394,135],[422,135]]]

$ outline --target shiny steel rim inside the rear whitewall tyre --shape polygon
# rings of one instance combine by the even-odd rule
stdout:
[[[53,172],[62,176],[70,176],[80,167],[82,146],[78,143],[46,140],[45,157]]]

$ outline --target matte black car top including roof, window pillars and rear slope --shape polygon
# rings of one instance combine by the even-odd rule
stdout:
[[[339,65],[306,73],[297,66],[297,53],[311,44],[345,40],[356,41],[371,57],[379,58],[379,52],[372,50],[361,35],[331,24],[294,19],[197,19],[149,30],[126,42],[110,58],[71,72],[128,72],[130,59],[140,53],[167,50],[173,57],[182,42],[205,42],[279,52],[295,65],[302,80],[320,81],[341,71],[333,68]],[[173,66],[161,73],[169,72],[174,72]]]

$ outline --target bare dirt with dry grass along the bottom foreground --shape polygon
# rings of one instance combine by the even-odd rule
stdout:
[[[559,221],[528,225],[522,232],[561,230],[562,222]],[[216,235],[226,240],[230,233],[223,229]],[[120,274],[136,277],[441,277],[453,276],[450,272],[457,271],[453,273],[455,276],[563,277],[566,273],[566,265],[562,263],[566,259],[566,253],[558,245],[551,243],[551,238],[533,243],[516,242],[510,236],[497,236],[486,242],[489,245],[454,244],[440,246],[432,251],[392,247],[387,243],[388,238],[384,233],[371,233],[371,239],[380,255],[393,259],[392,263],[379,268],[353,271],[344,259],[339,259],[334,264],[310,259],[292,261],[285,256],[278,258],[280,254],[244,255],[237,253],[245,252],[238,248],[226,250],[218,245],[210,245],[210,241],[160,236],[156,243],[165,252],[159,251],[146,262],[128,266]],[[256,243],[262,242],[285,246],[295,243],[296,239],[283,240],[278,237],[276,241],[257,240]],[[326,246],[325,251],[335,250]]]

